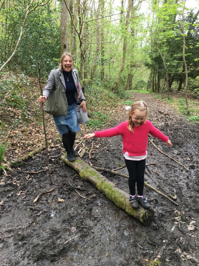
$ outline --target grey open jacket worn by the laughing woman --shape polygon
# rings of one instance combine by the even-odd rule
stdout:
[[[61,85],[63,86],[64,90],[66,91],[66,85],[65,85],[65,80],[64,80],[64,76],[63,76],[63,72],[61,70],[58,69],[53,69],[50,72],[50,75],[48,76],[48,80],[46,82],[46,86],[43,90],[43,95],[47,96],[47,99],[51,93],[51,91],[57,88],[58,86],[58,75],[57,73],[59,73],[59,79],[61,82]],[[79,75],[76,69],[72,70],[72,77],[73,77],[73,81],[75,83],[75,87],[76,87],[76,91],[75,91],[75,103],[77,103],[77,95],[79,94],[78,92],[78,88],[77,88],[77,84],[79,84]],[[84,94],[82,92],[81,86],[80,86],[80,98],[79,100],[84,99]]]

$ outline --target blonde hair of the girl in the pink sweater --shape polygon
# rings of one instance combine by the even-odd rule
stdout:
[[[141,100],[141,101],[138,101],[138,102],[134,102],[132,105],[131,105],[131,109],[129,111],[129,118],[128,118],[128,129],[133,132],[133,128],[135,126],[134,122],[132,121],[132,114],[135,112],[135,110],[140,110],[140,111],[145,111],[146,112],[146,116],[145,116],[145,119],[143,122],[141,122],[141,124],[144,124],[146,122],[146,118],[147,118],[147,104]]]

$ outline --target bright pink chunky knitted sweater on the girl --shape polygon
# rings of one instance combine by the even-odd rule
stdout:
[[[134,126],[134,132],[128,129],[127,121],[122,122],[114,128],[102,131],[96,131],[97,138],[107,138],[113,136],[122,136],[123,153],[128,152],[129,156],[141,156],[146,154],[148,144],[148,134],[160,140],[167,142],[169,139],[159,129],[155,128],[149,120],[140,126]]]

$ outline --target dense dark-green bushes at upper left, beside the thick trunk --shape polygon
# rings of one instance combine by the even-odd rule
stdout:
[[[18,5],[18,6],[17,6]],[[17,44],[20,31],[20,18],[26,10],[25,2],[19,0],[1,10],[0,19],[0,65],[9,58]],[[50,4],[36,9],[28,15],[17,53],[9,64],[15,71],[37,76],[37,56],[40,59],[42,76],[47,77],[50,70],[58,64],[59,25]],[[23,22],[23,20],[22,20]],[[5,31],[3,27],[6,25]],[[3,27],[2,27],[3,26]],[[1,30],[2,27],[2,30]]]

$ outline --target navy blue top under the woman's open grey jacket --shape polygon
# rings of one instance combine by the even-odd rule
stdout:
[[[64,81],[66,85],[66,98],[68,105],[75,102],[74,92],[76,90],[75,83],[73,81],[72,72],[66,72],[63,70]]]

